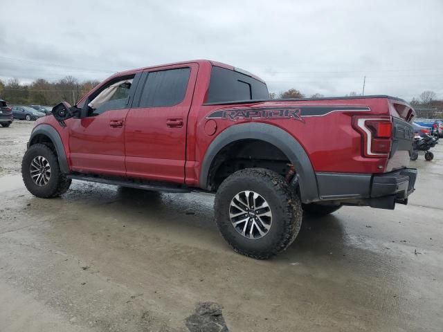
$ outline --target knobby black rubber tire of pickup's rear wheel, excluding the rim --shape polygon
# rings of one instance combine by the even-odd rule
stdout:
[[[251,190],[260,194],[272,212],[271,227],[259,239],[250,239],[237,232],[230,220],[231,200],[239,192]],[[215,223],[233,249],[254,259],[268,259],[286,250],[300,230],[302,206],[280,174],[263,168],[242,169],[221,183],[215,195]]]

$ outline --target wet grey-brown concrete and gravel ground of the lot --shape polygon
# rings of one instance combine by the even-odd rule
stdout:
[[[411,162],[409,205],[305,216],[257,261],[221,239],[208,194],[73,181],[35,198],[11,151],[31,128],[0,128],[0,331],[443,330],[443,144]]]

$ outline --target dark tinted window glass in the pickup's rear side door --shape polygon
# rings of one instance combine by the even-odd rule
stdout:
[[[149,73],[138,107],[165,107],[180,104],[186,95],[189,75],[190,68]]]

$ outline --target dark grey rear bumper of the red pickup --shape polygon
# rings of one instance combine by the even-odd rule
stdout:
[[[404,168],[384,174],[319,172],[316,178],[320,201],[393,209],[395,203],[408,203],[417,169]]]

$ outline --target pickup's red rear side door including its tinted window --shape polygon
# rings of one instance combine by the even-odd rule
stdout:
[[[198,64],[143,73],[125,127],[127,176],[184,183],[186,126]]]

